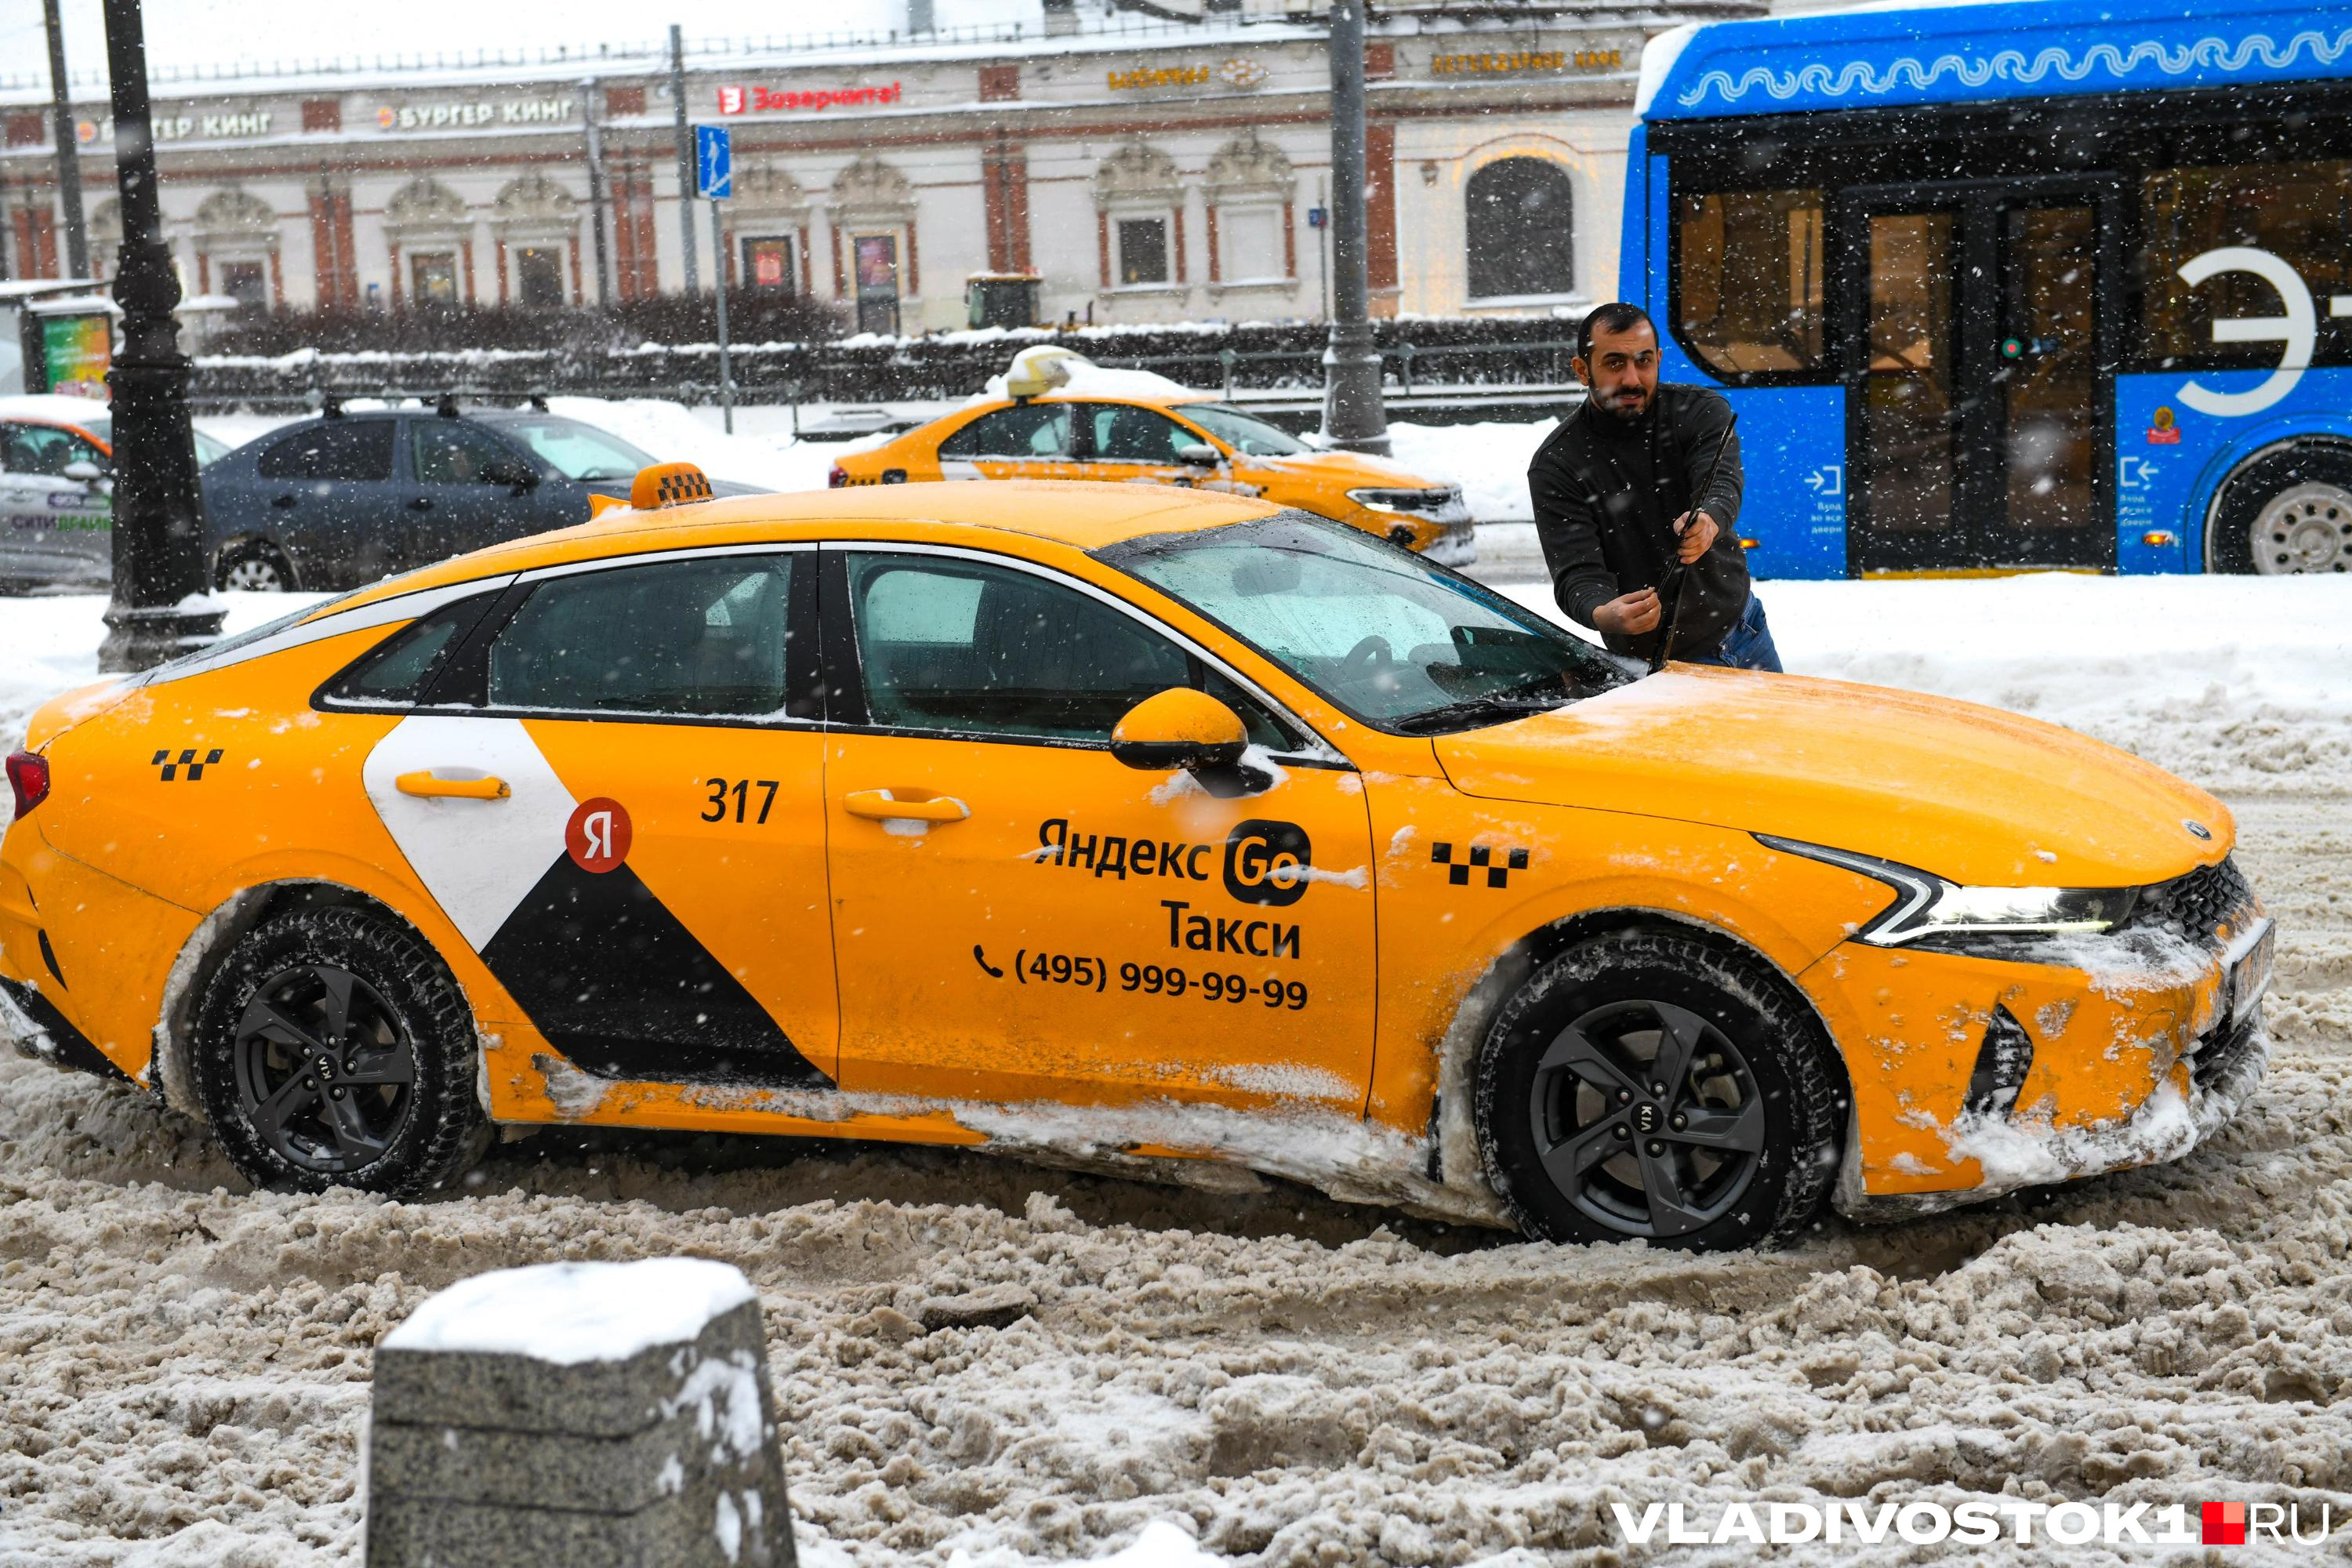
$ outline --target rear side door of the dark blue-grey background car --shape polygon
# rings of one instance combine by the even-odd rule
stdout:
[[[315,418],[254,456],[252,482],[205,487],[212,536],[278,548],[303,588],[358,588],[412,564],[402,487],[393,477],[400,421]]]

